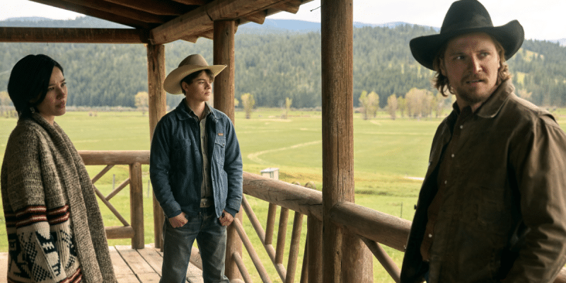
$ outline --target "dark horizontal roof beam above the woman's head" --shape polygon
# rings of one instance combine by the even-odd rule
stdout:
[[[133,28],[0,27],[0,42],[149,43],[148,30]]]

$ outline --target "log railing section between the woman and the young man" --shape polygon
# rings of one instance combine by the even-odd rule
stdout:
[[[105,165],[100,173],[92,178],[96,195],[120,220],[123,226],[105,227],[109,239],[131,238],[132,248],[144,248],[144,195],[141,182],[141,164],[149,164],[149,151],[79,151],[86,166]],[[129,178],[122,182],[107,196],[96,188],[98,181],[115,165],[129,166]],[[129,185],[130,222],[110,203],[112,197]]]

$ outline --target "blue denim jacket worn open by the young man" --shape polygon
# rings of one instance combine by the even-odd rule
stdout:
[[[242,157],[231,120],[210,108],[207,117],[210,178],[216,216],[222,210],[235,215],[242,200]],[[161,118],[151,141],[149,176],[155,197],[168,218],[200,209],[202,154],[200,126],[191,117],[185,99]]]

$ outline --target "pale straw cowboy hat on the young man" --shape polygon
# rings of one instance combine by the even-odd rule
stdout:
[[[226,65],[212,65],[209,66],[207,64],[207,60],[204,59],[200,54],[192,54],[189,55],[187,58],[183,59],[179,63],[179,67],[171,71],[168,76],[163,81],[163,88],[168,93],[172,94],[180,94],[183,93],[183,89],[181,89],[181,80],[185,79],[185,76],[188,76],[195,71],[201,71],[209,69],[212,71],[212,74],[216,76],[222,70],[226,68]]]

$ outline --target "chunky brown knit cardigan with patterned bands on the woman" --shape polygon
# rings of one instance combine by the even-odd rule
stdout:
[[[117,282],[93,185],[57,123],[18,120],[0,179],[8,282]]]

